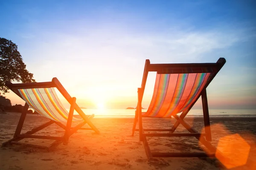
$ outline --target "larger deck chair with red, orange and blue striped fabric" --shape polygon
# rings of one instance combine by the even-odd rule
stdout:
[[[138,104],[135,111],[132,136],[139,131],[140,141],[143,142],[148,159],[152,157],[214,157],[216,148],[210,144],[211,129],[207,103],[206,88],[218,71],[223,67],[226,60],[219,58],[216,63],[187,63],[187,64],[150,64],[147,59],[143,73],[141,88],[138,88]],[[149,71],[157,72],[154,92],[151,103],[146,112],[142,112],[141,102],[145,90],[145,84]],[[205,133],[198,133],[189,124],[184,122],[184,117],[189,113],[195,102],[201,96],[204,114]],[[181,113],[180,116],[177,113]],[[171,129],[143,129],[143,117],[170,118],[173,116],[177,121]],[[139,129],[136,129],[136,124]],[[178,125],[183,125],[190,133],[174,133]],[[169,133],[145,133],[148,131],[166,131]],[[159,153],[151,152],[147,137],[177,137],[194,136],[204,144],[207,153]],[[203,136],[203,137],[202,137]]]

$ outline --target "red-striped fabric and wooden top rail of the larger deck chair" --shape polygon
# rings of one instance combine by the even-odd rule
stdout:
[[[157,71],[157,77],[151,103],[143,116],[170,117],[189,110],[225,62],[224,58],[216,63],[190,64],[150,64],[146,60],[142,96],[148,72]]]

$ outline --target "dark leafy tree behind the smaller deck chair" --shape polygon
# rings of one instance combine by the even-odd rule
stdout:
[[[26,65],[18,51],[18,47],[11,40],[0,37],[0,91],[8,92],[4,85],[6,81],[35,82],[33,74],[26,70]]]

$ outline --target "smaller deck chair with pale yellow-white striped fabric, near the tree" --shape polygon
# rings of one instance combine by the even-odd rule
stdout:
[[[81,108],[76,104],[76,98],[72,98],[70,94],[68,94],[68,92],[61,85],[57,78],[53,78],[51,82],[18,84],[6,82],[5,85],[15,94],[20,96],[20,98],[22,98],[26,102],[26,104],[23,107],[23,111],[17,124],[13,139],[4,142],[3,146],[6,146],[7,144],[23,144],[30,147],[38,147],[52,150],[62,142],[63,144],[67,144],[69,137],[79,129],[94,130],[96,133],[99,133],[99,130],[90,121],[90,119],[92,119],[94,115],[85,115]],[[69,112],[67,112],[67,110],[64,108],[61,101],[59,100],[55,92],[55,88],[57,88],[58,91],[64,96],[64,98],[70,103]],[[35,127],[34,129],[24,134],[20,134],[29,107],[34,109],[41,116],[47,117],[48,119],[50,119],[50,121],[44,123],[39,127]],[[73,116],[74,110],[76,110],[79,115]],[[76,122],[77,125],[75,127],[71,127],[72,122]],[[45,127],[48,127],[49,125],[52,125],[53,123],[57,124],[65,130],[62,137],[33,135],[34,133],[44,129]],[[86,123],[91,128],[82,128]],[[19,142],[24,138],[51,139],[55,141],[52,142],[49,147],[45,147]]]

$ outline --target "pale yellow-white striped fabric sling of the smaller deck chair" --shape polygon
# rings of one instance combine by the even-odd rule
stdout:
[[[22,98],[36,112],[57,122],[67,122],[69,113],[62,105],[54,88],[18,89]],[[73,122],[81,121],[73,116]]]

